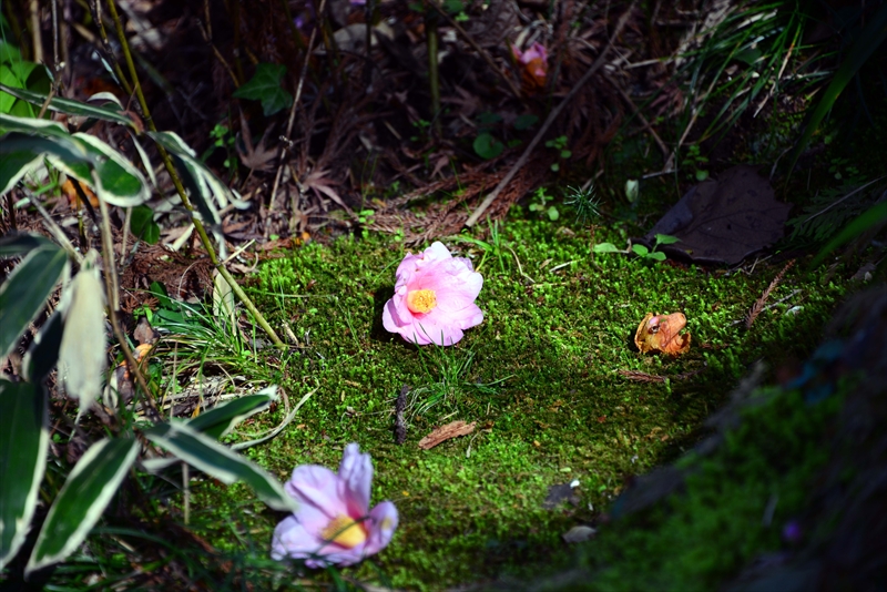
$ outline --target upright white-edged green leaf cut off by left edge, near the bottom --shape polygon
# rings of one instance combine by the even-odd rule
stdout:
[[[30,530],[47,468],[49,417],[40,385],[0,379],[0,570]]]

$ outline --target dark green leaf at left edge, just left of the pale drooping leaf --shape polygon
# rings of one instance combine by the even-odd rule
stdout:
[[[16,347],[19,337],[43,308],[67,265],[64,251],[49,244],[31,251],[0,286],[0,358]]]

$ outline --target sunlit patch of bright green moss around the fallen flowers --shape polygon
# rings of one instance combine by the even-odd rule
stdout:
[[[312,395],[277,438],[246,453],[285,480],[302,463],[335,469],[356,441],[373,456],[373,501],[392,500],[400,512],[392,543],[355,578],[381,573],[397,588],[437,590],[565,564],[562,533],[593,523],[626,478],[697,442],[705,418],[755,360],[776,368],[809,354],[846,289],[834,269],[805,275],[798,265],[769,302],[791,297],[747,330],[737,321],[782,265],[728,272],[592,257],[588,229],[540,220],[511,220],[495,239],[478,236],[490,248],[442,241],[485,278],[485,321],[450,348],[417,348],[381,328],[407,251],[391,238],[349,236],[278,253],[248,284],[272,324],[288,325],[299,340],[284,354],[263,349],[266,376],[251,378],[279,385],[290,401]],[[689,354],[634,349],[645,313],[679,310],[693,335]],[[673,379],[632,381],[620,370]],[[699,374],[679,377],[691,372]],[[394,400],[404,385],[412,389],[409,430],[398,446]],[[278,406],[242,431],[283,416]],[[418,448],[455,419],[477,421],[476,432]],[[549,488],[574,480],[577,502],[543,506]],[[232,551],[244,541],[266,548],[282,519],[238,486],[197,484],[191,506],[193,523]]]

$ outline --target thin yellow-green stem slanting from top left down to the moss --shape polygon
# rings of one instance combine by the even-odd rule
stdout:
[[[149,129],[156,133],[157,126],[154,124],[154,120],[151,118],[151,111],[147,108],[147,101],[145,101],[145,95],[142,92],[142,85],[139,83],[139,74],[135,72],[135,64],[133,63],[132,54],[130,53],[130,44],[126,40],[126,35],[123,32],[123,24],[120,21],[120,14],[118,14],[114,0],[108,0],[108,7],[111,11],[111,17],[114,20],[114,27],[118,30],[118,38],[120,39],[120,45],[123,48],[123,57],[126,59],[126,67],[129,68],[130,76],[132,76],[133,80],[133,86],[135,88],[135,94],[139,98],[139,104],[142,108],[142,115],[144,116],[144,121],[147,123]],[[253,304],[252,299],[249,299],[249,296],[247,296],[243,288],[237,284],[237,280],[234,279],[224,264],[220,263],[218,257],[215,254],[215,249],[213,248],[213,244],[210,241],[210,236],[206,234],[206,229],[203,227],[203,223],[194,215],[194,206],[191,204],[191,200],[187,197],[185,187],[182,185],[182,180],[179,178],[179,173],[175,171],[175,166],[173,166],[173,161],[170,159],[170,154],[161,144],[156,144],[156,146],[157,153],[160,154],[161,159],[163,160],[163,164],[166,167],[166,172],[170,174],[173,185],[175,185],[175,191],[179,193],[179,197],[182,200],[182,205],[184,205],[185,210],[187,210],[191,214],[191,221],[201,237],[201,243],[203,243],[203,247],[206,249],[206,254],[210,256],[210,262],[212,262],[213,267],[218,269],[218,274],[225,278],[225,282],[228,283],[231,290],[243,303],[246,309],[249,310],[249,314],[253,315],[258,326],[262,327],[262,329],[267,334],[274,345],[281,349],[286,349],[286,344],[284,344],[281,338],[277,337],[277,334],[274,331],[271,325],[268,325],[268,321],[265,320],[265,317],[262,315],[262,313],[258,312],[258,308],[256,308],[256,305]]]

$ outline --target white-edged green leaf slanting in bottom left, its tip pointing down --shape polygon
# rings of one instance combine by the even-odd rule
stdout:
[[[134,438],[105,438],[86,450],[49,510],[26,575],[64,560],[80,547],[137,455]]]

